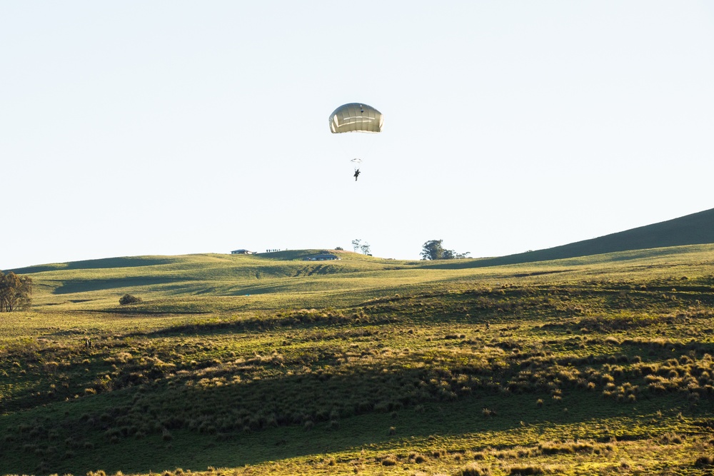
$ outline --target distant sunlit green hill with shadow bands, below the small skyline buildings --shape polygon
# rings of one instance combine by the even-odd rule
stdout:
[[[284,303],[268,305],[266,301],[282,296],[295,305],[308,301],[317,305],[316,300],[341,302],[340,295],[354,298],[369,288],[389,288],[390,281],[402,285],[416,279],[410,277],[408,270],[416,268],[418,262],[373,258],[348,251],[335,251],[340,260],[303,260],[319,251],[134,256],[37,265],[14,271],[34,280],[35,307],[74,304],[74,308],[85,309],[114,305],[124,293],[140,295],[144,300],[151,298],[154,305],[159,299],[169,300],[172,310],[178,309],[178,296],[184,298],[184,303],[191,296],[251,296],[251,301],[257,298],[270,308]],[[406,273],[399,274],[397,282],[393,272],[399,270]],[[332,279],[335,276],[341,278]],[[372,280],[371,284],[365,284],[366,277]],[[321,297],[320,293],[326,290],[333,295]],[[258,298],[261,295],[263,298]],[[238,301],[234,303],[238,305]],[[243,305],[246,299],[240,303]]]

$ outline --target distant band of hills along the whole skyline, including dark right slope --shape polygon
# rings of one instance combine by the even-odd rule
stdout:
[[[358,300],[375,298],[380,293],[397,293],[403,285],[411,285],[416,290],[431,288],[436,283],[443,285],[444,280],[468,280],[478,268],[483,269],[478,272],[478,278],[487,275],[498,278],[509,275],[498,268],[503,265],[550,263],[573,258],[583,260],[586,257],[590,257],[590,261],[607,261],[610,253],[625,253],[618,260],[653,259],[678,253],[680,246],[708,243],[714,243],[714,209],[600,238],[498,258],[390,260],[333,250],[341,260],[311,262],[303,258],[321,250],[289,250],[259,255],[104,258],[36,265],[14,272],[30,275],[35,280],[36,306],[114,307],[118,295],[138,293],[151,298],[154,312],[188,312],[195,306],[187,304],[186,299],[197,300],[208,295],[250,297],[240,301],[226,300],[221,307],[223,310],[261,306],[273,309],[284,305],[350,305]],[[488,271],[488,268],[494,270]],[[459,269],[463,270],[461,275],[448,274]],[[469,269],[474,271],[469,272]],[[437,270],[442,270],[442,274],[436,273]],[[521,274],[550,272],[521,270]],[[560,270],[555,272],[562,273]],[[332,279],[337,275],[341,279]],[[567,273],[561,278],[566,276]],[[175,298],[179,295],[184,297],[181,302],[187,306],[183,310],[176,304]],[[149,310],[146,303],[143,307]]]

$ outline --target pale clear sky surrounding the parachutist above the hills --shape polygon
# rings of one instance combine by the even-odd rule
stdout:
[[[0,0],[0,269],[678,218],[714,208],[713,85],[710,1]],[[351,102],[383,131],[332,134]]]

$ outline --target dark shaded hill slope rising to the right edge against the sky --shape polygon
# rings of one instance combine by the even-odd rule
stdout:
[[[443,267],[481,267],[535,261],[560,260],[578,256],[617,253],[681,245],[714,243],[714,208],[674,218],[673,220],[640,226],[610,235],[577,241],[544,250],[528,251],[498,258],[484,258],[467,263],[438,263]]]

